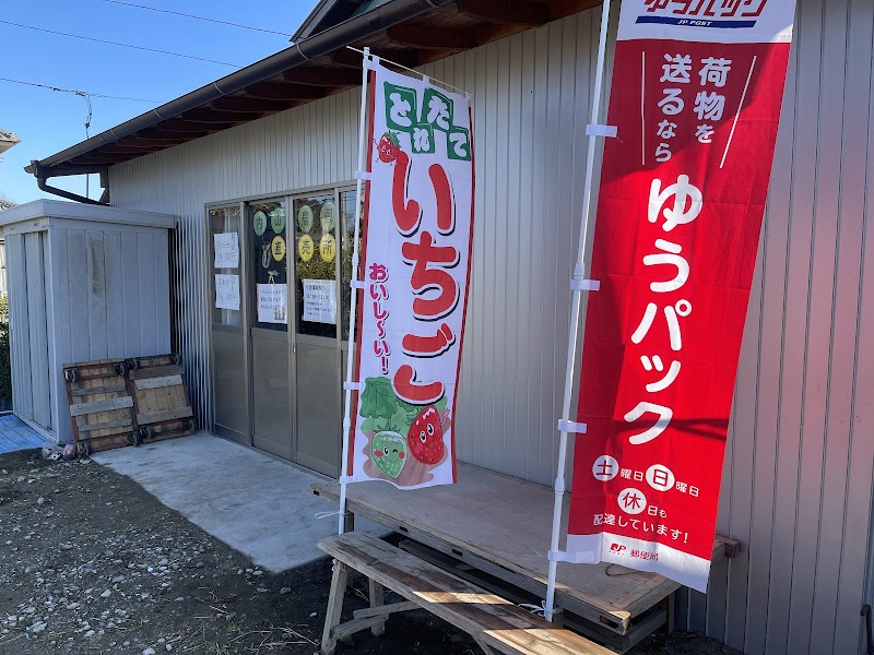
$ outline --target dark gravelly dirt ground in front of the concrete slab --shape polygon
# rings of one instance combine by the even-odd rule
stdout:
[[[331,564],[274,575],[91,461],[0,455],[0,654],[265,655],[318,652]],[[345,611],[364,607],[366,581]],[[391,602],[391,600],[389,600]],[[351,617],[350,617],[351,618]],[[480,655],[418,610],[339,655]],[[653,635],[629,655],[736,653],[699,635]]]

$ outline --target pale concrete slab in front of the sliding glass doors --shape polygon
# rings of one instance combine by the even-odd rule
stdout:
[[[331,505],[309,492],[323,478],[206,432],[92,458],[274,573],[323,557],[316,543],[336,533],[335,514],[317,519]],[[364,519],[355,524],[387,533]]]

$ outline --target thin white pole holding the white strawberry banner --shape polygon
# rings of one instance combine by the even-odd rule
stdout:
[[[354,380],[352,376],[355,372],[355,310],[358,305],[358,287],[355,285],[358,276],[358,238],[359,226],[362,221],[362,174],[364,172],[364,153],[366,152],[365,144],[367,143],[367,135],[365,134],[367,123],[367,63],[370,60],[370,48],[365,48],[362,59],[362,108],[358,118],[358,170],[355,174],[355,238],[352,246],[352,294],[349,308],[349,356],[346,358],[346,383],[344,388],[344,405],[345,410],[343,415],[343,455],[340,463],[340,519],[338,521],[338,534],[345,532],[346,519],[346,484],[349,478],[349,440],[350,429],[352,427],[352,385]],[[369,166],[368,166],[369,168]]]

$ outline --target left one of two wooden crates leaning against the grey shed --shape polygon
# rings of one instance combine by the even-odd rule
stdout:
[[[133,398],[126,371],[121,359],[63,366],[73,442],[80,456],[134,443]]]

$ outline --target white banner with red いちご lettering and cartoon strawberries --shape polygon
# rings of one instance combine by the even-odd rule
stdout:
[[[358,382],[342,481],[452,484],[473,227],[470,99],[368,66]]]

